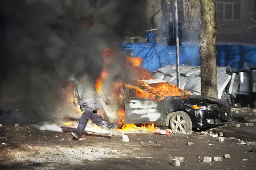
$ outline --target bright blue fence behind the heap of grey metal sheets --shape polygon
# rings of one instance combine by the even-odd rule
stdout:
[[[154,71],[169,64],[176,64],[176,47],[160,43],[121,43],[129,56],[142,57],[143,68]],[[183,43],[179,47],[180,65],[200,66],[199,45]],[[244,62],[256,65],[256,45],[217,43],[217,65],[243,68]]]

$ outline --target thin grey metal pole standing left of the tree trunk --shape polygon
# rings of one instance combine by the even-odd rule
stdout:
[[[176,38],[177,87],[180,87],[180,54],[179,54],[179,26],[178,26],[178,4],[177,4],[177,0],[175,0],[175,38]]]

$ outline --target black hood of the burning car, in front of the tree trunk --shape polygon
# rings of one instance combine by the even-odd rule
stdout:
[[[203,103],[209,103],[209,104],[218,104],[218,105],[224,105],[226,104],[225,101],[216,99],[213,97],[206,97],[206,96],[199,96],[199,95],[186,95],[187,99],[194,100],[197,102],[203,102]]]

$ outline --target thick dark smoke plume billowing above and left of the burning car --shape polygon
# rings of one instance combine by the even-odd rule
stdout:
[[[26,109],[54,113],[74,71],[95,83],[102,51],[116,43],[133,0],[5,0],[0,99],[20,96]]]

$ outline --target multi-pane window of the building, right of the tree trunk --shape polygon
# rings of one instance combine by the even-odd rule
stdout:
[[[241,0],[216,0],[217,19],[241,20]]]

